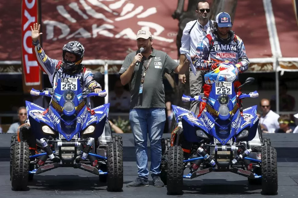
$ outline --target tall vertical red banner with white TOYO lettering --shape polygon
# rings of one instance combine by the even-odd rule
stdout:
[[[29,93],[31,88],[41,89],[41,70],[32,54],[31,29],[38,21],[38,0],[22,1],[22,66],[23,90]]]

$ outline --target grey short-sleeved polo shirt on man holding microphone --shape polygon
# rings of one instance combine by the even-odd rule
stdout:
[[[120,74],[124,73],[131,62],[133,61],[136,52],[132,52],[125,57],[124,63],[119,71]],[[145,67],[149,59],[152,59],[147,69],[143,93],[139,93],[141,79],[145,71]],[[164,74],[172,73],[179,64],[174,61],[167,53],[155,50],[152,48],[152,53],[146,60],[135,66],[135,70],[129,81],[129,89],[131,92],[130,109],[133,108],[165,108],[165,91],[163,85]]]

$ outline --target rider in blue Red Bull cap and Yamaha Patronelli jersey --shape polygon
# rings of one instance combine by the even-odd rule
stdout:
[[[248,69],[249,60],[246,56],[245,47],[240,37],[231,30],[231,17],[228,13],[221,12],[216,16],[213,23],[214,29],[206,35],[201,45],[196,49],[196,56],[193,64],[198,70],[213,71],[222,62],[230,62],[242,73]],[[238,76],[238,75],[237,75]],[[236,79],[237,80],[237,79]],[[209,97],[211,85],[205,77],[206,84],[203,86],[205,97]],[[239,81],[234,81],[237,88]],[[200,113],[205,108],[206,103],[200,103]],[[241,104],[239,104],[241,105]],[[241,105],[242,106],[242,105]],[[241,107],[240,106],[240,110]]]

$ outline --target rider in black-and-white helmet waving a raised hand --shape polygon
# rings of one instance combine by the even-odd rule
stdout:
[[[79,78],[82,89],[89,89],[98,93],[101,91],[99,83],[93,80],[93,73],[88,71],[82,64],[84,57],[84,46],[78,41],[71,41],[62,48],[62,61],[48,57],[39,43],[40,25],[33,24],[32,32],[32,52],[41,70],[49,76],[49,80],[55,88],[59,78]]]

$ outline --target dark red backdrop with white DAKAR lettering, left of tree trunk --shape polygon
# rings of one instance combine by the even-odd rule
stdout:
[[[177,1],[160,0],[42,0],[43,49],[61,59],[63,45],[77,40],[85,47],[84,60],[124,60],[144,29],[153,34],[155,49],[177,59],[176,7]]]

